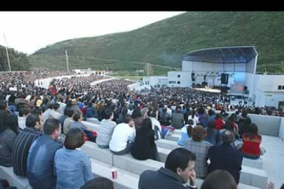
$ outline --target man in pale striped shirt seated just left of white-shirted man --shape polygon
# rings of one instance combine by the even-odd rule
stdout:
[[[99,129],[97,130],[99,134],[96,143],[99,147],[108,149],[110,139],[113,136],[113,131],[116,126],[117,123],[113,121],[113,110],[109,108],[104,110],[104,119],[101,121]]]

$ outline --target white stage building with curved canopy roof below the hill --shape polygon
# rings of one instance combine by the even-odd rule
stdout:
[[[248,97],[255,106],[278,108],[279,103],[284,103],[284,75],[257,74],[257,58],[254,46],[191,51],[182,56],[182,71],[167,73],[167,86],[192,87],[206,82],[209,87],[226,86],[230,88],[229,95]],[[223,84],[222,73],[228,75]],[[149,77],[143,81],[154,86],[160,78]]]

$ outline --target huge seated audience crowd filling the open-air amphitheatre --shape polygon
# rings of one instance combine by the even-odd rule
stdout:
[[[165,167],[143,172],[139,189],[197,188],[196,177],[204,189],[237,188],[243,158],[265,154],[248,113],[269,115],[270,108],[230,105],[226,95],[191,88],[138,92],[125,79],[91,85],[106,79],[95,75],[54,79],[45,89],[34,81],[64,73],[43,72],[0,76],[0,166],[27,177],[34,189],[114,188],[109,179],[93,178],[91,157],[79,150],[86,140],[116,155],[159,161],[156,140],[180,129],[180,148]],[[89,119],[99,129],[88,128]],[[8,188],[2,180],[1,186]]]

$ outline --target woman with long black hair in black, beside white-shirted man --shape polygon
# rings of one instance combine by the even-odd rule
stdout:
[[[145,118],[141,123],[141,128],[136,132],[130,153],[137,160],[158,160],[158,150],[154,141],[151,119]]]

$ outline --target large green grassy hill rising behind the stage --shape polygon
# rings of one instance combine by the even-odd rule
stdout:
[[[65,68],[66,49],[71,68],[129,73],[151,63],[154,74],[163,74],[169,67],[180,69],[181,56],[189,51],[255,45],[257,71],[265,66],[268,72],[284,73],[283,31],[284,12],[187,12],[133,31],[57,42],[29,60],[34,68]]]

